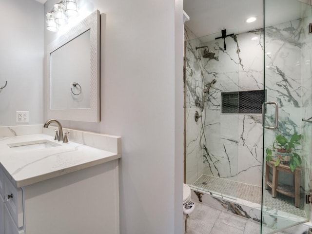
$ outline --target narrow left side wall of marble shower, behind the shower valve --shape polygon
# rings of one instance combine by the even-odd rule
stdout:
[[[204,82],[204,69],[198,51],[195,47],[201,42],[185,26],[185,85],[186,85],[186,183],[192,184],[203,174],[203,150],[200,147],[201,124],[195,122],[195,111],[201,113],[196,107],[196,101],[202,98],[202,87]]]

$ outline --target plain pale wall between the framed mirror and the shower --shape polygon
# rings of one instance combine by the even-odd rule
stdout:
[[[55,2],[48,0],[45,12]],[[102,13],[101,122],[61,123],[122,137],[121,234],[183,230],[182,4],[182,0],[80,1],[80,9]],[[44,32],[45,46],[58,36]]]

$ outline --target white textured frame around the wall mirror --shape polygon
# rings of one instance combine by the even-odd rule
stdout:
[[[84,122],[99,122],[99,58],[100,58],[100,19],[99,11],[96,10],[91,15],[81,20],[78,24],[72,27],[68,32],[54,40],[47,46],[47,73],[48,83],[48,118],[56,118],[63,120],[84,121]],[[85,31],[90,29],[90,108],[85,109],[51,109],[51,53],[59,47],[75,39]]]

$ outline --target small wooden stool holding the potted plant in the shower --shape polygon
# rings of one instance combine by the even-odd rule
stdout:
[[[276,197],[276,192],[294,197],[294,205],[299,207],[300,205],[300,168],[296,168],[294,172],[291,171],[291,168],[288,165],[278,164],[274,166],[275,161],[266,162],[266,172],[265,172],[265,189],[269,187],[272,188],[272,197]],[[273,178],[272,182],[269,181],[270,176],[270,167],[273,168]],[[286,189],[286,187],[278,185],[278,172],[282,171],[288,174],[294,175],[294,191]],[[290,186],[287,186],[289,188]]]

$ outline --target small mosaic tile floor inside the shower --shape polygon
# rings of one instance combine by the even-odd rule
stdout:
[[[207,175],[200,176],[192,185],[207,190],[207,192],[215,192],[261,204],[262,188],[259,186]],[[264,205],[292,215],[306,217],[303,208],[294,206],[293,198],[279,193],[277,193],[276,198],[273,198],[270,190],[265,190]]]

